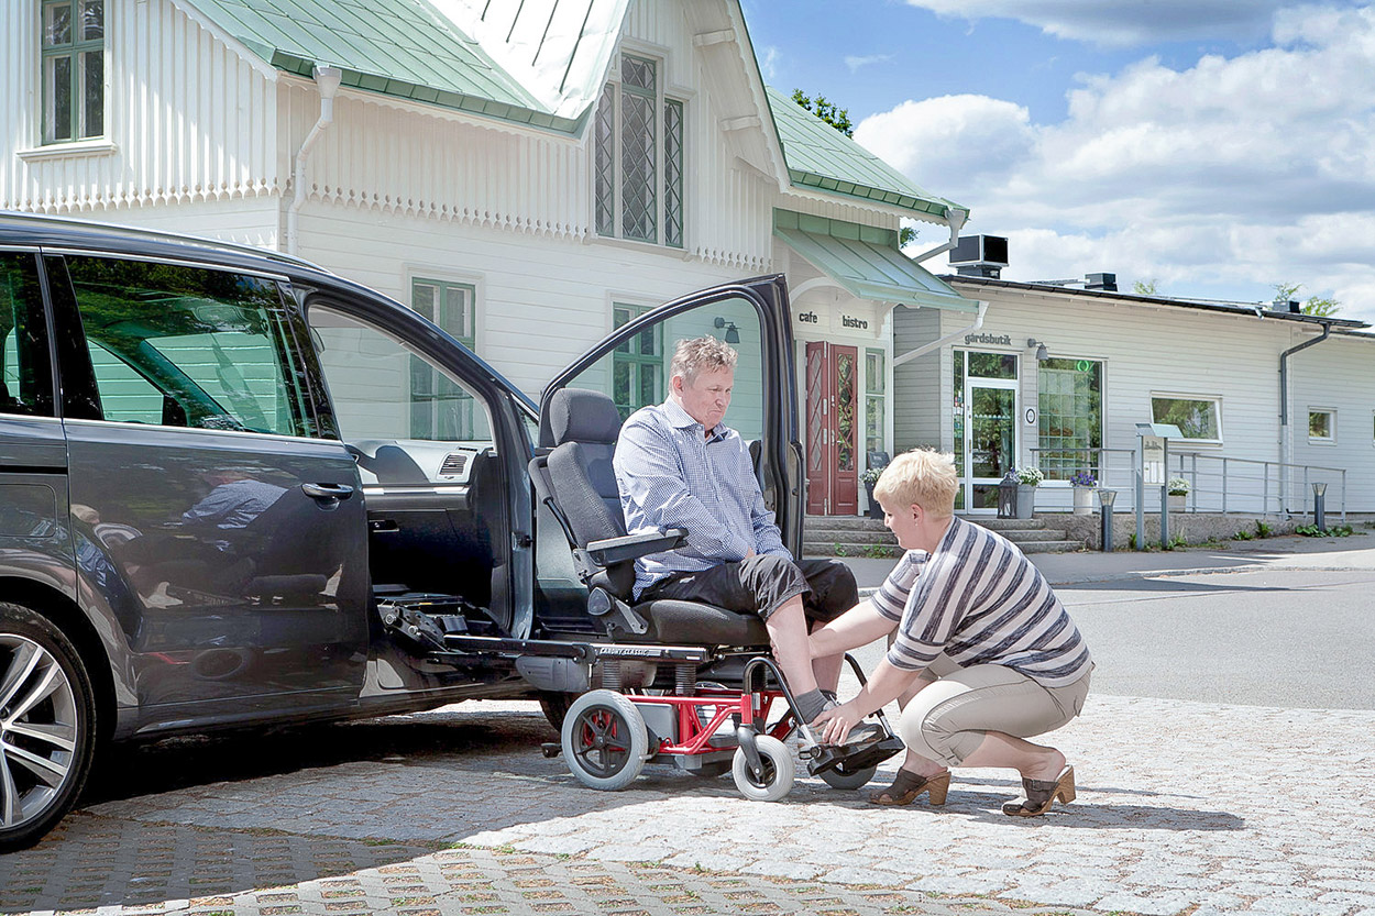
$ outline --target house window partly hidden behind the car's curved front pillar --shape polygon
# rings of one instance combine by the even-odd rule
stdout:
[[[476,300],[477,290],[469,283],[411,282],[411,308],[473,351],[477,349]],[[411,439],[462,441],[485,436],[485,430],[478,435],[473,399],[419,356],[411,358],[410,411]]]

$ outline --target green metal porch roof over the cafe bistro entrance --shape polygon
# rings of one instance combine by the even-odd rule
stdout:
[[[857,298],[956,312],[979,311],[978,303],[960,296],[898,250],[894,230],[774,210],[774,235]]]

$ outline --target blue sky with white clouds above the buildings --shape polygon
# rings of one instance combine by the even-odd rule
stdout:
[[[744,0],[764,80],[1008,238],[1004,279],[1375,323],[1375,3]],[[949,237],[916,224],[916,248]],[[947,272],[945,256],[927,261]]]

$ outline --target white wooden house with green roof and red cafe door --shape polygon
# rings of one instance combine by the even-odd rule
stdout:
[[[898,252],[967,213],[766,88],[737,0],[12,0],[0,91],[0,209],[297,253],[531,395],[644,308],[785,272],[815,512],[892,450],[892,311],[976,309]],[[748,364],[719,318],[681,330]],[[671,342],[619,400],[663,396]]]

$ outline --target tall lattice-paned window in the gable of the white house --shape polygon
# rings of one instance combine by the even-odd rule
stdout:
[[[597,103],[597,234],[682,248],[683,103],[664,98],[661,70],[623,54]]]

